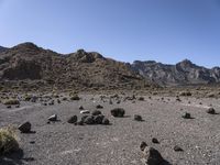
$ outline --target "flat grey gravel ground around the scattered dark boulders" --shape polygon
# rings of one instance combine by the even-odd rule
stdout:
[[[179,102],[175,97],[145,96],[144,101],[109,105],[108,99],[103,102],[98,95],[80,97],[80,101],[54,106],[21,102],[20,108],[7,109],[0,105],[0,127],[30,121],[35,131],[29,134],[18,131],[22,150],[0,157],[0,165],[139,165],[143,164],[139,147],[142,141],[174,165],[220,164],[220,114],[206,113],[210,105],[220,112],[219,99],[183,97]],[[80,117],[79,106],[95,110],[99,103],[110,125],[67,123],[70,116]],[[125,117],[111,117],[113,108],[123,108]],[[194,119],[183,119],[185,112],[190,112]],[[61,121],[47,124],[47,118],[54,113]],[[134,114],[141,114],[144,121],[134,121]],[[158,139],[160,144],[153,144],[152,138]],[[175,145],[184,152],[175,152]]]

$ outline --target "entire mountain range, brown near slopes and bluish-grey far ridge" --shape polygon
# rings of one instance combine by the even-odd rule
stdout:
[[[211,69],[185,59],[176,65],[154,61],[132,64],[78,50],[58,54],[33,43],[0,46],[0,82],[58,89],[142,89],[160,86],[205,85],[220,81],[220,68]]]

